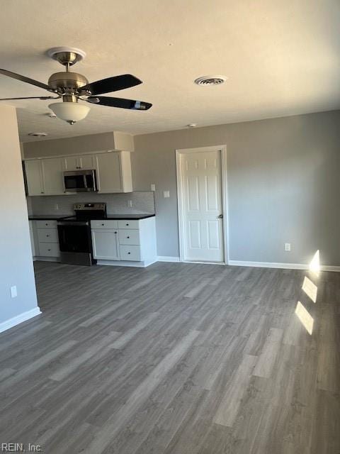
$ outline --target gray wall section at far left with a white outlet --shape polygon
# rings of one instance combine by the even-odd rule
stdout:
[[[0,106],[0,323],[37,307],[16,110]],[[18,297],[11,299],[16,285]]]

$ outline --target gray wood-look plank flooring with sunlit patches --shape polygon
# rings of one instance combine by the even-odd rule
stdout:
[[[0,443],[340,453],[339,273],[35,262],[35,274],[42,315],[0,334]]]

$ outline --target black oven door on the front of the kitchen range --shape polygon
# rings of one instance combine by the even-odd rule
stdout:
[[[93,265],[89,221],[57,223],[60,259],[73,265]]]

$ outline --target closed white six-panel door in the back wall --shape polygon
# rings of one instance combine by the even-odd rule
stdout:
[[[183,258],[223,262],[221,151],[180,156]]]

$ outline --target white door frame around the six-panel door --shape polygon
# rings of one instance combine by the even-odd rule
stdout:
[[[181,155],[188,153],[204,153],[206,151],[220,151],[221,153],[221,182],[222,182],[222,214],[223,214],[223,255],[222,264],[229,264],[229,218],[228,218],[228,194],[227,194],[227,145],[212,145],[199,148],[179,148],[176,150],[176,179],[177,179],[177,211],[179,217],[179,261],[186,262],[184,258],[184,202],[182,192]],[[194,262],[199,263],[199,262]],[[207,262],[204,262],[207,263]],[[212,262],[215,263],[215,262]]]

